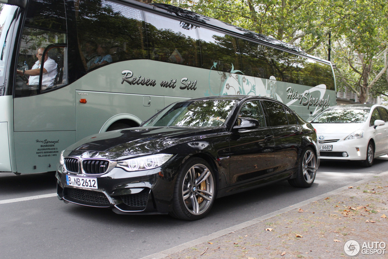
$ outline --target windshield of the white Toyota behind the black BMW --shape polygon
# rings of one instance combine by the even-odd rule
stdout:
[[[370,109],[334,109],[319,114],[311,123],[362,123]]]

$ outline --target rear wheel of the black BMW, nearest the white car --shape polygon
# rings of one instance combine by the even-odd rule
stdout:
[[[296,178],[289,179],[288,182],[294,187],[310,187],[314,182],[316,172],[317,157],[314,151],[308,147],[303,151],[302,157],[300,158]]]

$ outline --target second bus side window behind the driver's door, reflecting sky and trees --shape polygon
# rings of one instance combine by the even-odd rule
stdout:
[[[144,13],[150,59],[201,66],[197,26],[149,12]]]

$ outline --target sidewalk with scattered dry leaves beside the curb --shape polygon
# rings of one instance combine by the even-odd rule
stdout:
[[[144,258],[350,258],[351,239],[380,249],[353,258],[388,258],[388,172],[325,196]]]

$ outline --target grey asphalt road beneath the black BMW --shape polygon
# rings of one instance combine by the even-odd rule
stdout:
[[[204,219],[131,216],[65,204],[56,197],[1,204],[2,200],[55,193],[53,173],[0,173],[1,258],[140,258],[249,221],[388,170],[388,157],[371,168],[356,162],[325,162],[314,185],[280,182],[217,199]]]

